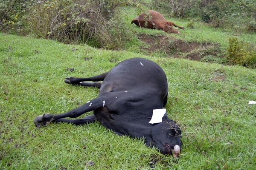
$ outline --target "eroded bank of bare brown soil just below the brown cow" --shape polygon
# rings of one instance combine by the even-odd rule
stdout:
[[[214,43],[195,41],[186,42],[176,38],[167,37],[163,34],[140,34],[139,39],[147,44],[145,47],[142,47],[144,50],[149,52],[164,51],[167,55],[172,55],[175,58],[187,58],[200,61],[207,55],[219,57],[221,53],[221,51],[218,50],[218,45]]]

